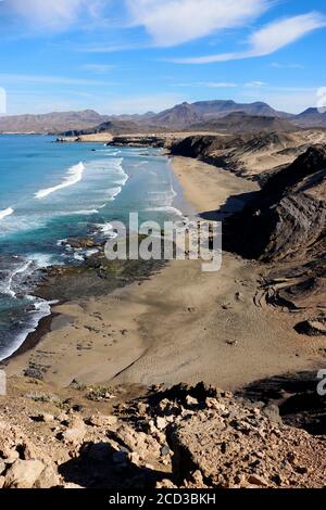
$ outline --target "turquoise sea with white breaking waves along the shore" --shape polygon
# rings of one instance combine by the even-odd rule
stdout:
[[[88,255],[62,240],[110,237],[110,221],[127,222],[129,212],[162,226],[181,215],[162,151],[53,141],[0,136],[0,359],[50,314],[50,304],[29,295],[37,270]]]

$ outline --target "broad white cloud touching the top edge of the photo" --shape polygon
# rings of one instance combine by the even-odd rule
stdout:
[[[217,30],[242,26],[262,14],[269,0],[126,0],[135,25],[154,44],[172,47]]]

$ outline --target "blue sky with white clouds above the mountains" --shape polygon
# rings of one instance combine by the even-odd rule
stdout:
[[[0,0],[0,30],[9,114],[209,99],[296,113],[326,86],[321,0]]]

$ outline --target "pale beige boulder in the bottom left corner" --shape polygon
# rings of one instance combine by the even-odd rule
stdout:
[[[33,488],[45,470],[39,460],[16,460],[8,470],[4,488]]]

